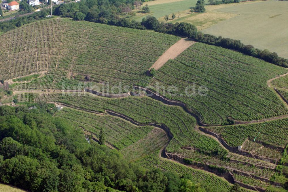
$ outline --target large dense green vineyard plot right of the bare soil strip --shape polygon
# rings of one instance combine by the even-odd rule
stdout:
[[[160,94],[187,104],[207,124],[221,124],[228,117],[253,120],[287,114],[284,103],[267,86],[267,80],[286,72],[235,51],[195,43],[160,68],[150,85],[154,91],[157,86],[176,86],[175,96],[162,89]],[[208,88],[202,92],[206,96],[197,93],[201,86]]]

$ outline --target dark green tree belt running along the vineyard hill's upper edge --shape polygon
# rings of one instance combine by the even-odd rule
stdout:
[[[156,32],[189,37],[202,43],[237,50],[241,53],[263,59],[267,62],[288,67],[288,59],[279,57],[275,52],[271,53],[267,49],[260,50],[254,48],[252,45],[244,45],[239,40],[223,38],[221,36],[215,37],[210,34],[202,34],[202,32],[197,31],[197,28],[194,25],[189,23],[160,23],[157,18],[153,16],[147,16],[146,18],[143,18],[142,22],[138,22],[130,18],[120,18],[118,16],[118,14],[125,12],[125,8],[127,7],[133,9],[135,4],[137,4],[137,7],[141,6],[141,3],[134,0],[82,0],[78,3],[55,5],[53,6],[53,14],[73,18],[74,20],[85,20],[142,30],[149,29],[155,30]],[[198,0],[196,7],[193,7],[193,10],[196,12],[204,12],[204,0]],[[32,14],[31,16],[2,22],[0,23],[0,30],[1,32],[7,32],[16,27],[22,26],[23,24],[44,19],[48,14],[49,10],[42,10],[38,13]]]

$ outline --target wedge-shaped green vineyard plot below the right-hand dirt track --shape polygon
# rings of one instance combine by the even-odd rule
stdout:
[[[288,143],[287,118],[265,123],[216,126],[206,129],[221,135],[230,146],[242,145],[247,138],[254,139],[255,137],[257,137],[256,141],[264,141],[281,147],[284,147]]]

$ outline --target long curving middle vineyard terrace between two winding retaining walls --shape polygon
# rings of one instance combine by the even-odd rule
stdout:
[[[80,94],[80,95],[79,95]],[[215,151],[220,145],[214,139],[199,134],[194,130],[196,120],[184,112],[181,107],[171,107],[149,97],[126,97],[122,99],[106,99],[77,93],[37,94],[23,93],[17,95],[18,101],[53,101],[65,103],[86,110],[105,112],[111,110],[133,119],[138,123],[156,123],[168,127],[173,139],[167,150],[173,152],[181,146],[193,146],[207,151]]]

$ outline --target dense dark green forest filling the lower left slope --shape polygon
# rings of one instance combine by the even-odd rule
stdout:
[[[145,170],[88,143],[55,111],[46,103],[0,107],[1,182],[29,191],[213,191],[190,174]]]

